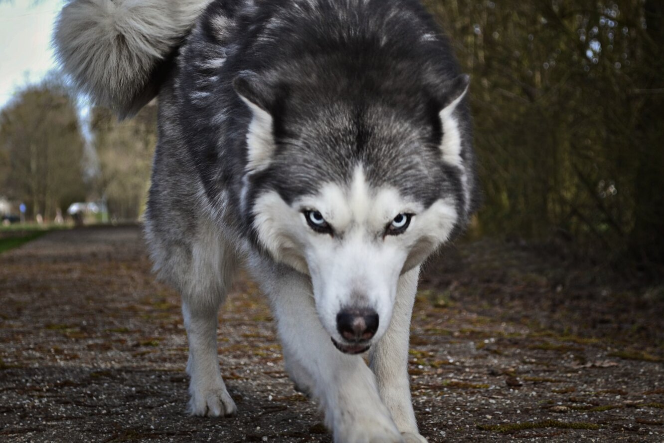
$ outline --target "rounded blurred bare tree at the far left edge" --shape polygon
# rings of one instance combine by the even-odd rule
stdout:
[[[76,108],[51,80],[25,88],[1,112],[0,152],[9,165],[3,185],[28,217],[51,219],[86,197]]]

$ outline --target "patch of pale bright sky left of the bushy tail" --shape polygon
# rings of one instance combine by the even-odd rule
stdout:
[[[0,108],[55,67],[50,37],[63,0],[0,2]]]

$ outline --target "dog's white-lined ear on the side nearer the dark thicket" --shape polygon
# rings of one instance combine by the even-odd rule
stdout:
[[[443,129],[443,137],[440,141],[440,151],[443,161],[464,169],[461,159],[461,130],[459,122],[454,115],[459,103],[468,92],[470,76],[462,74],[439,86],[440,102],[442,110],[438,114]]]

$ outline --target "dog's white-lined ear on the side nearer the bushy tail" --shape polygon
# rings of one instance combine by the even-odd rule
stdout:
[[[247,130],[248,171],[268,167],[276,145],[274,143],[274,119],[270,109],[274,104],[272,89],[255,72],[241,72],[233,80],[233,87],[252,112]]]

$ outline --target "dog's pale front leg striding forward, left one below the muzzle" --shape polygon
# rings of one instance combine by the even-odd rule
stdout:
[[[311,376],[313,395],[323,406],[335,442],[403,443],[362,357],[341,353],[323,329],[311,282],[297,272],[272,268],[264,290],[272,299],[280,337],[288,357],[297,359]],[[262,278],[265,272],[262,270]]]

